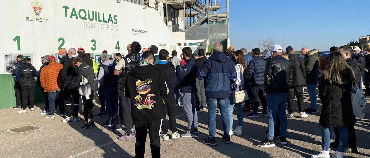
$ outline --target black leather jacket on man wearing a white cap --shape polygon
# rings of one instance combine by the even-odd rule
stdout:
[[[289,85],[293,82],[292,63],[277,55],[266,61],[265,93],[289,93]]]

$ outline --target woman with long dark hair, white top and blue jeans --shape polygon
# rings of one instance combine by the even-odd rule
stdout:
[[[244,78],[246,78],[246,74],[244,72],[245,69],[247,69],[247,63],[246,63],[246,60],[244,58],[244,54],[242,51],[235,51],[234,54],[233,54],[234,58],[235,58],[235,70],[236,70],[236,80],[235,82],[231,85],[231,92],[233,91],[240,91],[242,90],[240,87],[243,87],[243,82],[244,82]],[[233,110],[233,107],[234,105],[236,106],[236,109],[238,109],[238,126],[235,127],[235,130],[236,131],[240,131],[239,133],[235,133],[235,134],[238,134],[238,135],[241,135],[241,129],[242,129],[242,123],[243,123],[243,111],[242,111],[242,102],[240,103],[234,103],[233,102],[233,99],[232,99],[232,94],[230,95],[230,106],[229,106],[229,119],[230,119],[230,131],[229,131],[229,135],[233,135],[233,130],[232,130],[232,121],[233,121],[233,118],[232,118],[232,110]],[[239,128],[239,130],[237,129]]]

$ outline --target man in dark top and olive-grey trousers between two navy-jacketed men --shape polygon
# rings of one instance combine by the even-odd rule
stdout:
[[[195,65],[196,65],[196,96],[195,96],[195,110],[197,112],[201,112],[202,110],[206,110],[206,95],[205,95],[205,89],[204,89],[204,79],[200,80],[198,79],[198,72],[199,69],[202,68],[204,61],[207,60],[207,58],[204,58],[204,49],[198,49],[198,59],[195,59]]]

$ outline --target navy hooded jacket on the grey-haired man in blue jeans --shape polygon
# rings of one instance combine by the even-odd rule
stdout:
[[[236,71],[232,60],[220,51],[204,61],[198,72],[198,79],[204,79],[206,97],[226,98],[230,96],[231,80],[236,79]]]

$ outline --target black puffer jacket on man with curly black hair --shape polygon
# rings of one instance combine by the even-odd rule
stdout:
[[[135,66],[139,65],[140,62],[140,54],[139,53],[130,53],[127,54],[124,58],[125,60],[125,67],[122,68],[122,73],[120,78],[118,78],[118,89],[125,89],[126,79],[128,73],[135,68]]]

